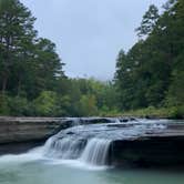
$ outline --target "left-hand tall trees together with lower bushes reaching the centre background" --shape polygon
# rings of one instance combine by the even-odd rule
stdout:
[[[0,0],[0,115],[83,116],[116,111],[111,82],[69,79],[19,0]]]

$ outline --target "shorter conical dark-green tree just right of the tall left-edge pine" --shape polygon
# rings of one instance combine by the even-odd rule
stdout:
[[[29,99],[34,99],[41,91],[54,91],[58,80],[65,78],[62,67],[55,44],[48,39],[38,39],[22,79]]]

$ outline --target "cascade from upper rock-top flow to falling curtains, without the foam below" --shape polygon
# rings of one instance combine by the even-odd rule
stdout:
[[[110,146],[115,140],[129,140],[146,132],[164,130],[164,125],[133,122],[76,125],[59,132],[43,146],[43,155],[57,160],[74,160],[90,165],[108,165]]]

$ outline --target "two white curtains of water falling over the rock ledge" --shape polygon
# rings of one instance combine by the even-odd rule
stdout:
[[[103,139],[84,140],[76,136],[49,139],[44,145],[44,156],[61,160],[78,160],[91,165],[106,165],[111,141]]]

